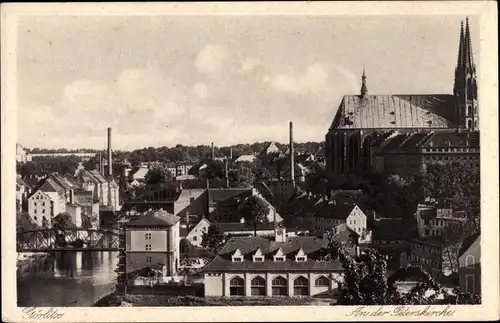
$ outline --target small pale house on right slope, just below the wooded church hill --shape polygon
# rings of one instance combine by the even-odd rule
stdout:
[[[426,238],[441,236],[447,227],[454,224],[464,224],[467,221],[464,212],[452,209],[438,208],[435,204],[419,204],[415,212],[418,234]]]

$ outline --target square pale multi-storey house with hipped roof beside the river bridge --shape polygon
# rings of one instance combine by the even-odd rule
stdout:
[[[126,273],[160,264],[173,276],[179,269],[179,220],[161,209],[125,223]]]

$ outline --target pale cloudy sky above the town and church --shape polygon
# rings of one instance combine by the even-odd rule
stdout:
[[[363,65],[370,94],[451,94],[464,19],[23,17],[18,142],[101,149],[107,127],[123,150],[287,142],[290,121],[295,141],[323,141]]]

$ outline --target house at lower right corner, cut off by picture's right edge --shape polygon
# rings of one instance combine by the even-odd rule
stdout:
[[[481,236],[468,237],[459,251],[458,280],[465,293],[481,295]]]

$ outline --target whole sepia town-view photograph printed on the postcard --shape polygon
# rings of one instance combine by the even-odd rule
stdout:
[[[19,15],[2,234],[23,319],[484,305],[496,65],[480,14],[436,12]]]

